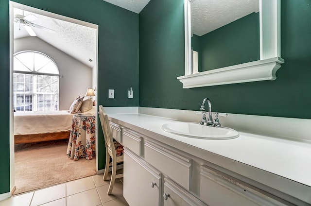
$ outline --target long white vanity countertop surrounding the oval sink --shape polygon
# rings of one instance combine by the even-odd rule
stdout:
[[[240,137],[227,140],[183,137],[161,129],[163,124],[176,121],[173,119],[144,114],[108,114],[108,116],[311,187],[310,143],[242,131],[238,131]]]

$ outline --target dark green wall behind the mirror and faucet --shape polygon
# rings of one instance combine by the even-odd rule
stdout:
[[[139,106],[311,119],[311,5],[282,0],[275,81],[183,89],[184,0],[151,0],[139,14]],[[225,59],[223,60],[225,61]],[[199,120],[199,117],[198,117]]]

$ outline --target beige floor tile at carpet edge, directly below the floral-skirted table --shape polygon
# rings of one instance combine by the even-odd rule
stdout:
[[[95,188],[92,177],[86,177],[66,183],[67,196]]]

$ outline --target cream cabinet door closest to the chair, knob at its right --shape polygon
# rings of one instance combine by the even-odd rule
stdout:
[[[124,148],[123,196],[130,206],[161,205],[161,173]]]

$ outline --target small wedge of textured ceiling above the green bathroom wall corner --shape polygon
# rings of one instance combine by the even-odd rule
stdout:
[[[104,0],[121,8],[138,13],[149,3],[150,0]]]

